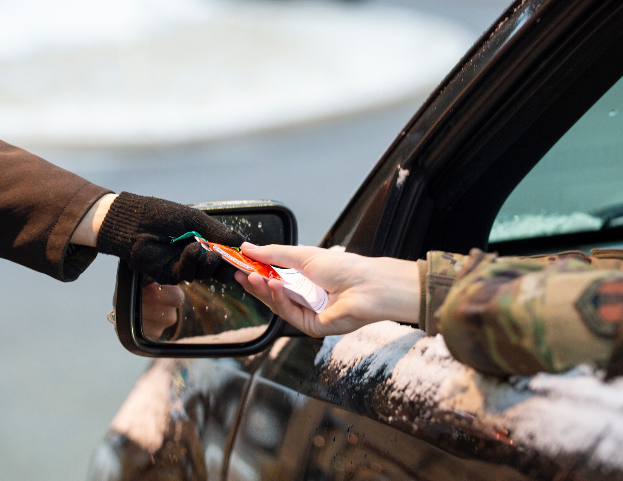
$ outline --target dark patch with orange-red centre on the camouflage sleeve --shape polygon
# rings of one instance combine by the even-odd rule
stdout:
[[[614,338],[623,323],[623,278],[594,280],[575,304],[587,328],[597,336]]]

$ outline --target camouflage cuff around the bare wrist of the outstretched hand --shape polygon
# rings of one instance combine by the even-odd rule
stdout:
[[[434,336],[439,332],[435,312],[444,303],[467,257],[469,256],[430,250],[426,254],[426,260],[417,261],[420,274],[419,325],[427,335]]]

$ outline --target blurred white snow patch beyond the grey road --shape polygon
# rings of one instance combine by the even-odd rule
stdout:
[[[474,40],[399,6],[259,0],[0,4],[16,145],[209,140],[422,98]]]

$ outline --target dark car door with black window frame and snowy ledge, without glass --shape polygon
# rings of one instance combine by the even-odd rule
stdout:
[[[623,240],[612,229],[529,241],[498,234],[506,212],[498,213],[521,179],[623,75],[621,10],[516,2],[402,131],[321,245],[417,259],[487,249],[490,238],[505,254],[578,247],[573,236]],[[226,479],[618,479],[621,460],[606,449],[616,429],[603,424],[619,422],[617,408],[602,398],[591,424],[584,414],[595,398],[579,396],[578,383],[618,393],[586,371],[485,378],[452,360],[439,336],[392,321],[323,341],[283,338],[252,378]]]

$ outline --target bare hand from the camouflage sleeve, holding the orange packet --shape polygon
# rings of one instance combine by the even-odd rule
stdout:
[[[322,337],[354,331],[391,319],[417,323],[420,286],[415,262],[391,257],[364,257],[319,247],[242,244],[252,259],[297,269],[329,293],[325,310],[316,314],[293,303],[280,281],[266,282],[257,273],[239,271],[235,279],[270,310],[304,333]]]

